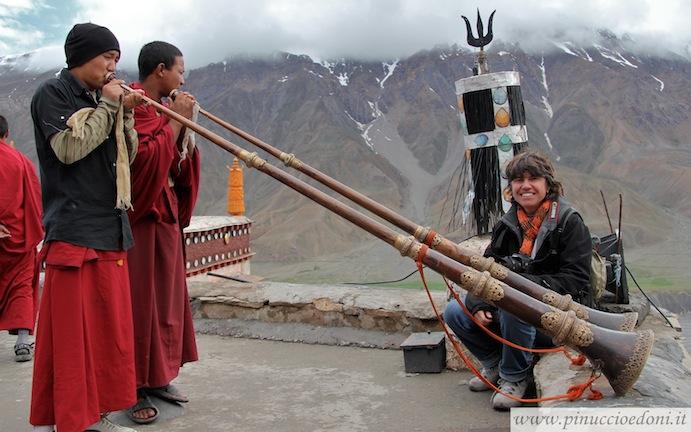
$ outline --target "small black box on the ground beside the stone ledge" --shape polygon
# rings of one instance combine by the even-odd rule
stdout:
[[[401,349],[407,373],[439,373],[446,367],[444,332],[413,333]]]

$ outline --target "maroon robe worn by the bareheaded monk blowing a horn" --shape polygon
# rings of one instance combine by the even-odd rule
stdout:
[[[139,149],[131,167],[129,272],[137,388],[152,388],[168,385],[198,358],[182,229],[197,199],[200,157],[195,149],[180,159],[168,117],[153,106],[136,107],[134,120]]]

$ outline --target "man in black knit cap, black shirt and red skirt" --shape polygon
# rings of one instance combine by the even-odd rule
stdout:
[[[107,28],[75,25],[65,56],[67,68],[31,101],[46,273],[30,422],[42,432],[133,432],[104,414],[136,402],[127,210],[142,99],[114,79],[120,44]]]

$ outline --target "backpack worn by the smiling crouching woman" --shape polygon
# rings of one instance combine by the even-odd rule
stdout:
[[[569,207],[557,221],[556,243],[564,231],[569,217],[577,213]],[[590,302],[591,305],[600,303],[629,303],[629,289],[626,282],[626,267],[624,251],[620,248],[620,240],[614,233],[603,237],[591,236],[592,253],[590,258]]]

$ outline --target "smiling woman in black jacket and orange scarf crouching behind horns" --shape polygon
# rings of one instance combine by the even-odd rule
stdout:
[[[533,151],[519,153],[506,166],[505,175],[509,185],[504,193],[512,204],[494,226],[485,256],[545,288],[592,306],[590,233],[580,215],[563,199],[563,187],[552,162]],[[567,212],[576,217],[564,217]],[[551,344],[535,327],[472,295],[466,297],[465,304],[480,323],[504,339],[528,348]],[[489,338],[456,302],[449,304],[444,316],[482,363],[485,378],[499,382],[504,394],[522,398],[532,375],[532,354]],[[478,378],[470,381],[469,388],[489,390]],[[492,397],[495,409],[520,405],[504,394]]]

